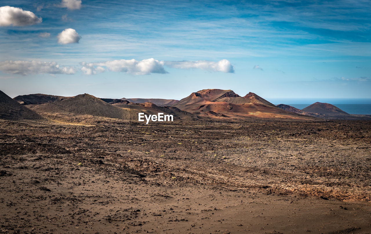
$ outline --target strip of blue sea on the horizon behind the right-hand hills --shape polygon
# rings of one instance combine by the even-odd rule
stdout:
[[[286,104],[302,110],[315,103],[329,103],[349,114],[371,114],[371,98],[270,98],[271,103]]]

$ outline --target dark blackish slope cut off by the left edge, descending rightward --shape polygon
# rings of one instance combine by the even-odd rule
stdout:
[[[22,104],[19,104],[0,90],[0,119],[42,120],[44,118]]]

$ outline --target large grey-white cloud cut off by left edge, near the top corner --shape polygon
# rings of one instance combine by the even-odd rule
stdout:
[[[0,26],[25,26],[41,23],[42,18],[37,17],[31,11],[25,11],[18,7],[0,7]]]

